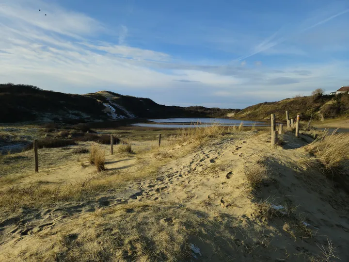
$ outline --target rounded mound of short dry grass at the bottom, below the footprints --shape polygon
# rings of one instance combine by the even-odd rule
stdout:
[[[226,214],[208,217],[181,205],[144,202],[72,216],[36,233],[11,261],[254,261],[251,250],[263,248]]]

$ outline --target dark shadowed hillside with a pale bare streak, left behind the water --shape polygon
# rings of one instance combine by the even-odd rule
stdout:
[[[23,84],[0,84],[0,122],[60,121],[65,123],[153,117],[223,117],[232,109],[159,105],[150,98],[109,91],[64,94]]]

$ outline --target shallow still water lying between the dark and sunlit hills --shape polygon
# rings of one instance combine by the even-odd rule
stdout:
[[[255,121],[245,121],[236,119],[226,119],[226,118],[166,118],[166,119],[149,119],[148,121],[154,122],[150,123],[135,123],[133,126],[138,127],[153,127],[153,128],[189,128],[197,126],[196,123],[199,122],[198,126],[208,127],[213,123],[218,123],[222,126],[238,126],[242,122],[244,126],[251,127],[255,124],[257,127],[265,127],[270,124],[267,122],[255,122]],[[160,124],[160,123],[171,123],[171,124]],[[173,124],[181,123],[181,124]]]

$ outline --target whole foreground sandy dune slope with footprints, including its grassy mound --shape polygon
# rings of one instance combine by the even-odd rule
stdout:
[[[162,248],[176,249],[182,243],[178,252],[187,252],[186,261],[309,261],[331,240],[348,261],[348,195],[300,164],[306,155],[301,147],[311,138],[286,134],[283,140],[284,147],[271,147],[268,134],[249,131],[212,139],[179,158],[171,156],[188,142],[160,149],[152,158],[166,161],[156,177],[129,181],[88,201],[23,209],[3,220],[0,260],[170,261],[180,257],[174,251],[158,254],[154,245],[173,243]],[[246,172],[261,163],[268,176],[252,190]],[[107,168],[137,164],[136,157],[117,156]],[[62,170],[76,179],[88,169]],[[62,170],[50,177],[62,178]],[[64,245],[62,234],[68,236]]]

